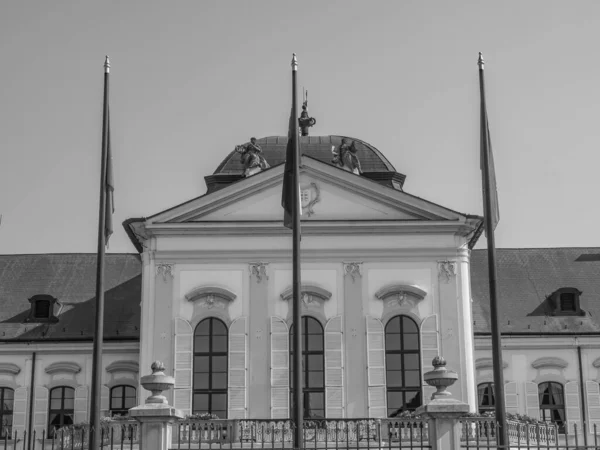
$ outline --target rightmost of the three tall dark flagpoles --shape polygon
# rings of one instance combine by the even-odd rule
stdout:
[[[483,57],[479,53],[479,91],[481,95],[481,153],[483,159],[483,193],[484,219],[488,244],[488,274],[490,281],[490,319],[492,322],[492,363],[494,367],[494,400],[498,448],[508,445],[506,408],[504,404],[504,374],[502,366],[502,339],[498,324],[498,295],[496,289],[496,242],[494,239],[494,205],[492,196],[496,195],[496,186],[492,186],[490,174],[490,136],[485,103],[485,82],[483,74]],[[494,191],[494,192],[492,192]]]

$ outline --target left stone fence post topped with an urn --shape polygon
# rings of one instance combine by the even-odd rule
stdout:
[[[140,448],[144,450],[169,450],[172,425],[183,414],[170,406],[163,391],[175,384],[173,377],[164,374],[165,366],[160,361],[152,363],[152,375],[141,378],[144,389],[152,391],[146,404],[129,410],[129,416],[140,423]]]

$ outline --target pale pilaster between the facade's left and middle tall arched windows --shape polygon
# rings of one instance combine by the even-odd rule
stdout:
[[[249,390],[248,418],[270,417],[269,274],[265,262],[248,264],[249,283]]]

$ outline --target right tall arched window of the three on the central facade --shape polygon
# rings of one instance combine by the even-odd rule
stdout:
[[[419,327],[410,317],[396,316],[385,326],[388,417],[421,406]]]

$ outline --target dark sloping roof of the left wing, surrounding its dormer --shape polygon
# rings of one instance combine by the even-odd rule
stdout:
[[[94,334],[96,254],[0,255],[0,340],[90,340]],[[105,339],[139,339],[139,255],[105,257]],[[24,323],[29,298],[55,297],[56,324]]]

